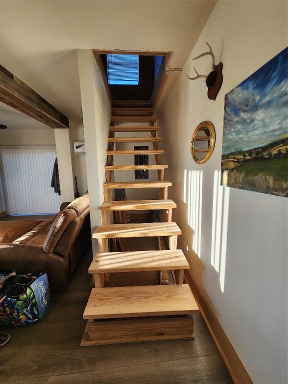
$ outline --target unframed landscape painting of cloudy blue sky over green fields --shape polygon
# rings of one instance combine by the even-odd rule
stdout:
[[[221,184],[288,197],[288,48],[225,95]]]

